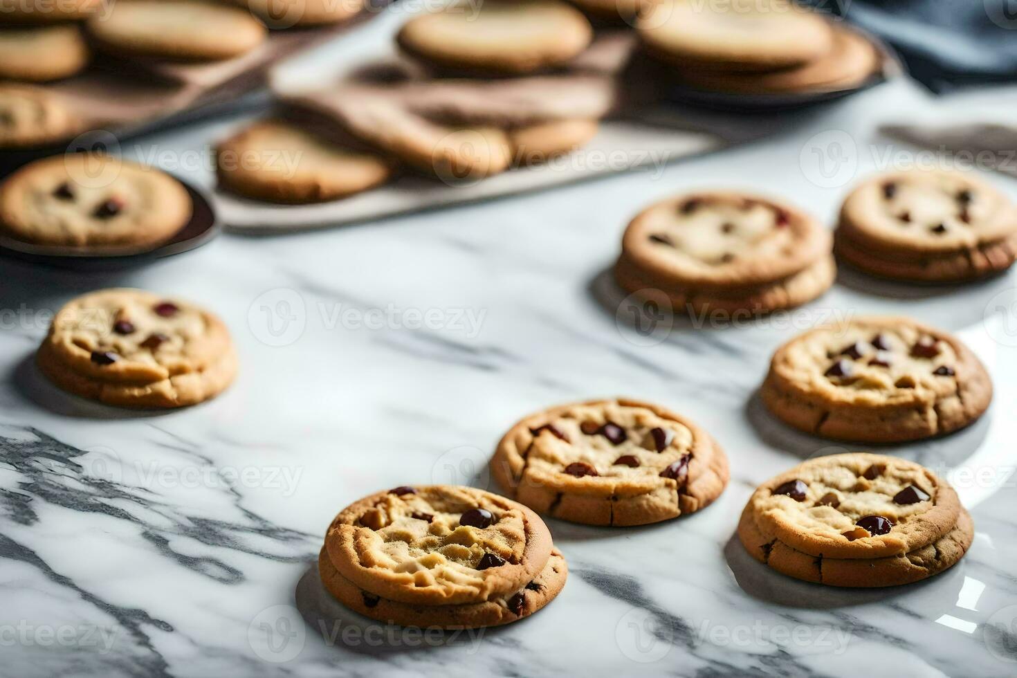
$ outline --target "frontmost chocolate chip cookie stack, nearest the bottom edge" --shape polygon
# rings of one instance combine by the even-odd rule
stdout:
[[[397,487],[333,520],[318,557],[324,588],[360,614],[403,626],[518,621],[564,587],[564,558],[532,510],[470,487]]]

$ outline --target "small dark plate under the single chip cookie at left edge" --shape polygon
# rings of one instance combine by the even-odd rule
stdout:
[[[178,179],[179,181],[179,179]],[[0,254],[31,263],[61,268],[104,269],[137,266],[154,259],[181,254],[204,245],[222,230],[208,199],[193,186],[181,181],[191,197],[193,210],[190,221],[165,244],[156,249],[97,254],[74,247],[33,245],[0,236]]]

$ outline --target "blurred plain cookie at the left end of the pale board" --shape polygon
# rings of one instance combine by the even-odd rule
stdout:
[[[216,150],[220,184],[256,200],[322,202],[384,183],[393,164],[277,120],[256,122]]]

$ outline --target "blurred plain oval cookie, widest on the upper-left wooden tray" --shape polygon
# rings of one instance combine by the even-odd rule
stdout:
[[[201,0],[130,0],[87,22],[97,46],[116,56],[220,61],[260,45],[264,25],[240,7]]]

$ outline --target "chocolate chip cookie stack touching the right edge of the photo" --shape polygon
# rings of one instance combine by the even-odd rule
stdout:
[[[982,278],[1017,260],[1017,207],[972,173],[879,175],[844,201],[835,249],[851,265],[884,278]]]

